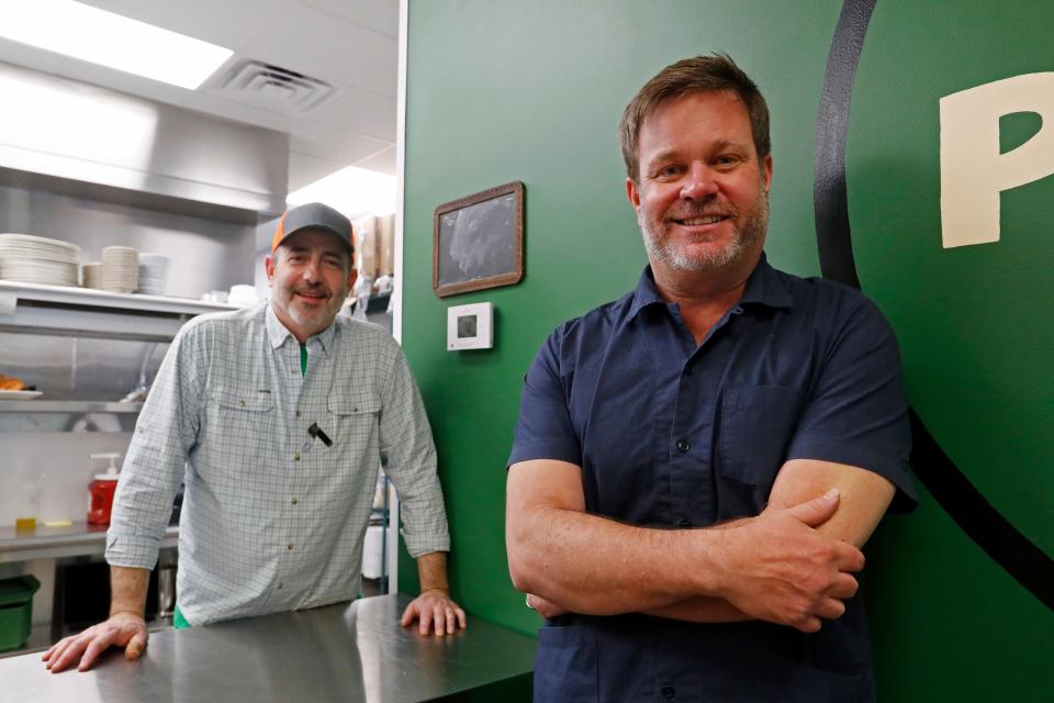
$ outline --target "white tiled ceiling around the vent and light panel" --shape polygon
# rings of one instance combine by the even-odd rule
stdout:
[[[349,165],[395,174],[399,0],[80,1],[233,49],[226,66],[255,59],[338,94],[290,115],[224,97],[210,81],[190,91],[3,38],[0,62],[287,132],[290,191]]]

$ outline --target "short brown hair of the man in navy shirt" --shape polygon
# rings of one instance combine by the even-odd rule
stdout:
[[[754,137],[758,158],[763,159],[772,150],[769,140],[769,104],[758,90],[758,86],[728,54],[714,53],[708,56],[685,58],[671,64],[644,83],[623,113],[618,124],[618,143],[623,147],[626,161],[626,175],[639,182],[640,164],[637,146],[640,141],[640,127],[659,104],[671,98],[680,98],[693,92],[735,92],[747,107],[750,116],[750,131]]]

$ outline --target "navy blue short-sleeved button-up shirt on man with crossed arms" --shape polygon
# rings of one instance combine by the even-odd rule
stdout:
[[[897,487],[894,510],[915,504],[889,325],[859,291],[764,257],[698,346],[646,269],[631,293],[553,332],[525,381],[509,464],[578,465],[593,514],[666,528],[756,515],[789,459],[874,471]],[[547,625],[536,701],[874,696],[861,595],[812,635],[637,614]]]

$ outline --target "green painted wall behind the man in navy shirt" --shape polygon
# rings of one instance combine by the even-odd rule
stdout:
[[[1021,2],[1008,16],[996,7],[878,2],[854,91],[850,215],[861,280],[897,327],[912,403],[971,480],[1050,554],[1054,381],[1042,371],[1054,342],[1054,178],[1003,194],[999,244],[944,250],[940,239],[937,100],[1054,70],[1054,9]],[[411,0],[403,345],[439,448],[455,595],[474,616],[538,626],[509,583],[504,549],[504,466],[523,375],[556,325],[629,290],[646,263],[615,136],[626,102],[677,58],[730,53],[772,109],[770,258],[816,275],[812,140],[840,9]],[[511,180],[527,191],[524,281],[437,299],[434,209]],[[481,301],[494,303],[494,349],[447,352],[446,309]],[[868,557],[885,700],[1040,700],[1051,689],[1041,685],[1054,683],[1051,611],[924,491],[919,511],[886,521]],[[416,588],[405,555],[400,574],[402,590]]]

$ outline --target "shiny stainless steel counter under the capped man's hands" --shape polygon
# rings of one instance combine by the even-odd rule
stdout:
[[[430,701],[534,669],[535,640],[470,620],[422,637],[399,618],[407,595],[150,635],[141,661],[111,650],[96,669],[48,672],[40,652],[0,660],[0,698],[19,703]]]

